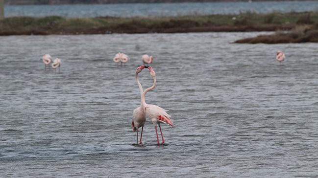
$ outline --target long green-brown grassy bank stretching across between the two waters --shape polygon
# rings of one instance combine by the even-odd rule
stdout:
[[[277,31],[307,24],[308,16],[311,24],[318,23],[318,12],[155,18],[9,17],[0,20],[0,35]]]

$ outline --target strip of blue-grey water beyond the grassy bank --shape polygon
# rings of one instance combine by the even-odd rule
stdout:
[[[247,0],[246,0],[247,1]],[[261,2],[197,2],[197,3],[123,3],[76,5],[6,5],[5,16],[180,16],[239,14],[240,12],[270,13],[318,11],[317,0]]]

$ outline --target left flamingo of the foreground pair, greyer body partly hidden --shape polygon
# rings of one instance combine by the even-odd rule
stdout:
[[[140,91],[140,97],[141,97],[141,102],[140,102],[140,107],[136,108],[133,113],[132,113],[132,130],[135,132],[137,131],[137,144],[138,144],[138,129],[142,127],[141,129],[141,135],[140,135],[140,144],[142,144],[141,139],[143,136],[143,131],[144,131],[144,126],[146,122],[146,111],[145,111],[145,106],[142,98],[143,94],[143,87],[141,86],[139,80],[138,80],[138,74],[145,68],[145,65],[142,65],[136,69],[136,74],[135,74],[135,79],[137,81],[139,91]],[[145,100],[145,99],[144,99]]]

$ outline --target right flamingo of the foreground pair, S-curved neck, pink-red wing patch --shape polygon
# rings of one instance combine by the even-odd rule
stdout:
[[[156,105],[148,105],[145,101],[146,93],[148,91],[150,91],[151,89],[154,89],[156,87],[156,73],[152,69],[152,67],[147,67],[147,68],[149,69],[150,75],[153,78],[153,85],[151,87],[145,89],[145,91],[142,94],[141,100],[142,100],[143,106],[145,106],[145,111],[146,111],[147,116],[149,116],[151,118],[152,125],[154,126],[155,131],[156,131],[156,135],[157,135],[157,143],[159,145],[160,143],[159,143],[159,137],[158,137],[158,132],[157,132],[157,125],[159,125],[160,134],[161,134],[161,138],[162,138],[162,144],[164,144],[165,140],[164,140],[164,137],[162,134],[160,124],[165,123],[165,124],[169,124],[173,127],[173,122],[170,118],[171,116],[167,113],[167,110],[160,108],[159,106],[156,106]]]

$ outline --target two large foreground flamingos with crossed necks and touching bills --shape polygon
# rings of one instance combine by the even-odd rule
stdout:
[[[150,71],[150,75],[153,78],[153,85],[147,89],[143,89],[143,87],[141,86],[139,80],[138,80],[138,74],[144,69],[144,68],[148,68]],[[144,130],[144,126],[145,126],[145,122],[146,122],[146,116],[151,118],[151,122],[155,128],[156,131],[156,135],[157,135],[157,143],[158,145],[159,143],[159,137],[158,137],[158,132],[157,132],[157,125],[159,125],[159,129],[160,129],[160,133],[161,133],[161,138],[162,138],[162,144],[165,143],[163,134],[162,134],[162,130],[161,130],[161,123],[165,123],[165,124],[169,124],[171,126],[173,126],[173,122],[170,118],[170,115],[167,113],[167,110],[160,108],[159,106],[156,105],[148,105],[146,103],[145,97],[146,97],[146,93],[148,91],[150,91],[151,89],[154,89],[156,87],[156,73],[155,71],[152,69],[152,67],[146,67],[145,65],[142,65],[140,67],[138,67],[136,69],[136,74],[135,74],[135,79],[137,81],[139,90],[140,90],[140,97],[141,97],[141,103],[140,103],[140,107],[136,108],[133,111],[133,116],[132,116],[132,123],[131,126],[133,127],[133,131],[137,131],[137,144],[138,144],[138,129],[140,127],[142,127],[141,130],[141,135],[140,135],[140,142],[139,144],[142,144],[141,139],[143,136],[143,130]]]

